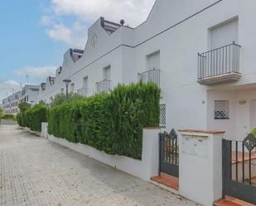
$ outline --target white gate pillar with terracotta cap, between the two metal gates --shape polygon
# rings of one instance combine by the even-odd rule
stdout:
[[[180,130],[180,194],[205,206],[222,197],[225,132]]]

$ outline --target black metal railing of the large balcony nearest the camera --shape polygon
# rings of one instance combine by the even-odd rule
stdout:
[[[233,42],[230,45],[198,54],[198,79],[220,74],[239,74],[240,47]]]

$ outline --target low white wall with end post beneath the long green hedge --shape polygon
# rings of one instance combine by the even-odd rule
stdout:
[[[48,135],[48,140],[53,141],[61,146],[70,148],[71,150],[80,152],[85,156],[89,156],[95,160],[99,160],[106,165],[113,166],[118,170],[122,170],[130,175],[134,175],[142,180],[149,181],[152,176],[158,175],[158,151],[159,129],[143,129],[142,139],[142,160],[134,160],[126,156],[111,156],[103,151],[98,151],[91,146],[83,144],[75,144],[65,139]],[[42,134],[46,134],[46,125],[42,125]]]

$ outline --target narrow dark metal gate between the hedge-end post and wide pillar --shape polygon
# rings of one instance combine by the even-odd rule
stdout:
[[[179,177],[179,142],[174,129],[159,133],[159,174]]]

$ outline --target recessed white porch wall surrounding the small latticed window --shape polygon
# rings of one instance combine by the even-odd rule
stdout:
[[[256,89],[211,90],[207,98],[207,128],[225,131],[225,138],[244,140],[252,131],[251,102],[256,99]],[[214,100],[229,100],[229,119],[214,119]]]

